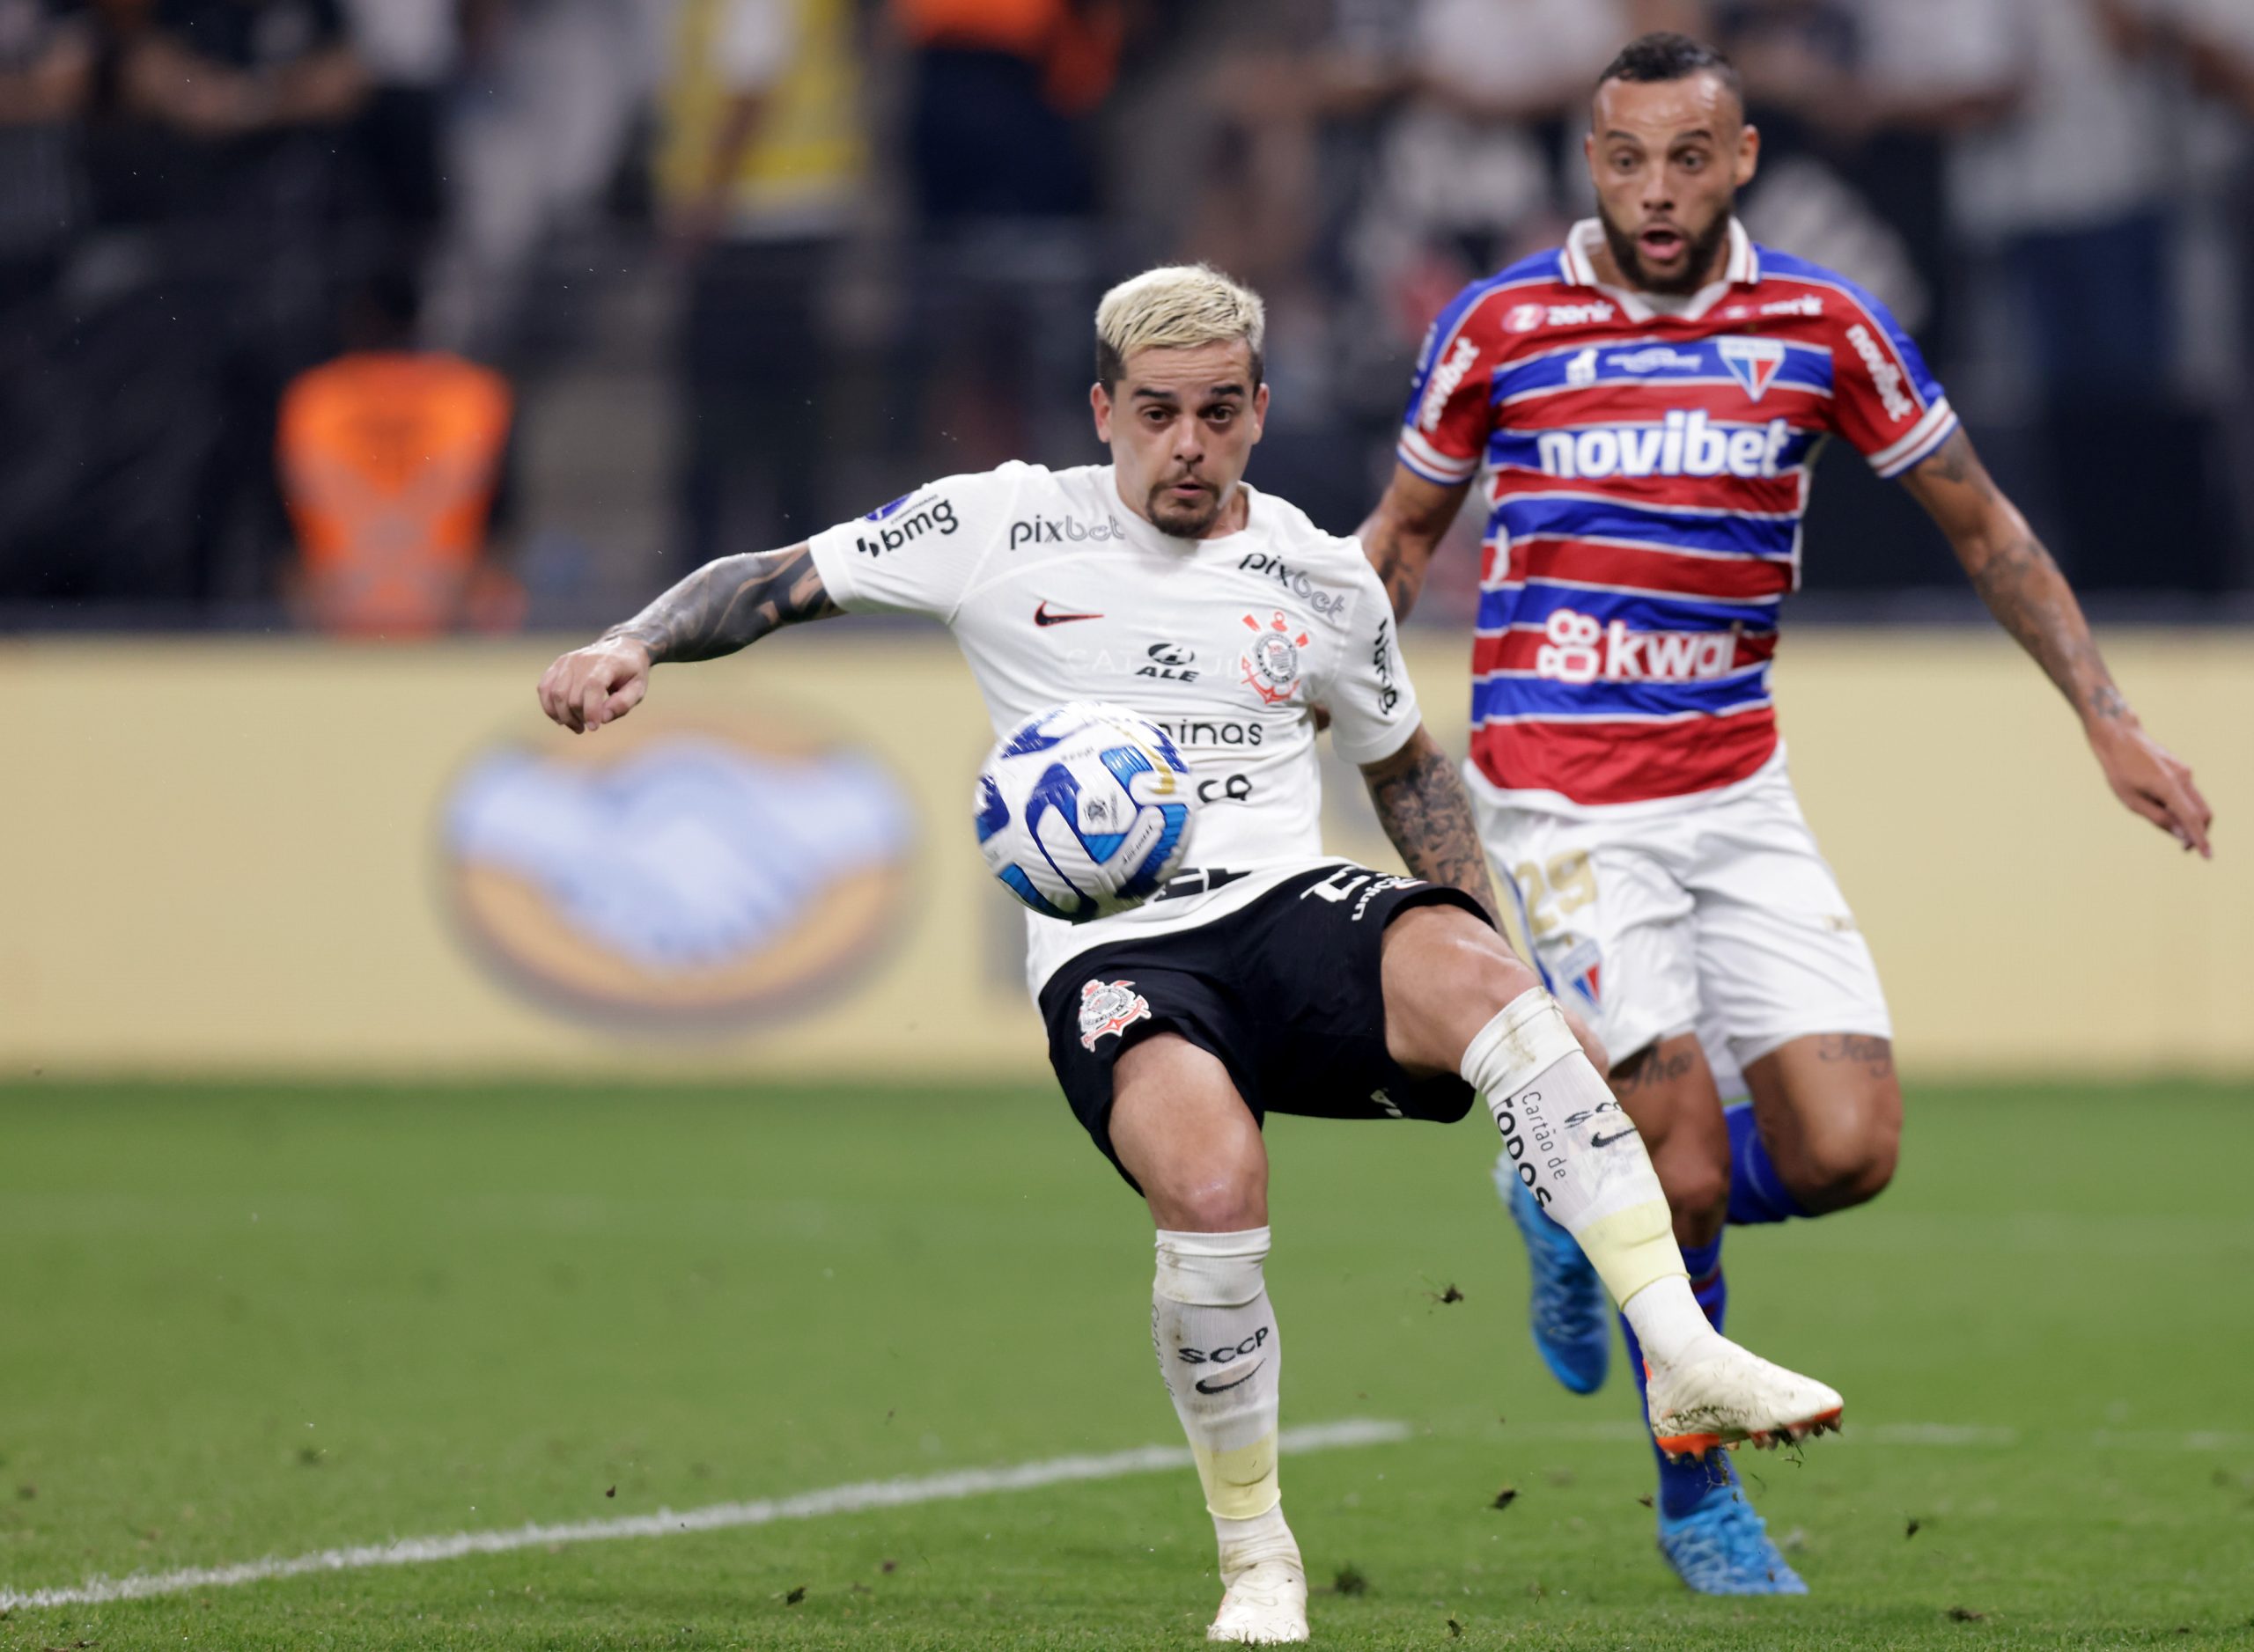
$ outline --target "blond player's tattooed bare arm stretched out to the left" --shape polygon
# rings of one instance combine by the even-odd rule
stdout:
[[[708,561],[600,640],[561,656],[541,676],[541,710],[575,735],[642,703],[649,669],[667,660],[735,654],[784,624],[841,609],[805,545]]]

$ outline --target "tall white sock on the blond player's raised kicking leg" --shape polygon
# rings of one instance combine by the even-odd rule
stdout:
[[[1668,1366],[1711,1339],[1643,1138],[1558,1001],[1535,987],[1503,1005],[1465,1048],[1463,1077],[1485,1093],[1519,1179],[1580,1242],[1645,1359]]]

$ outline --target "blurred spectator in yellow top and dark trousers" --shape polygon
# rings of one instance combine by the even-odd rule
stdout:
[[[678,0],[658,187],[690,266],[683,541],[805,539],[829,505],[825,293],[863,201],[850,0]]]

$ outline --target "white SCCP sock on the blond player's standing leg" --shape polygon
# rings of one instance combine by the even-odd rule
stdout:
[[[1152,1280],[1150,1341],[1206,1487],[1224,1589],[1258,1560],[1298,1566],[1276,1478],[1283,1343],[1260,1271],[1267,1251],[1267,1228],[1161,1228]]]

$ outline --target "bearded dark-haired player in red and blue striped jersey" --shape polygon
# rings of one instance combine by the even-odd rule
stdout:
[[[2114,687],[1916,345],[1860,286],[1738,225],[1760,137],[1731,65],[1679,34],[1634,41],[1598,81],[1585,151],[1598,216],[1434,322],[1361,543],[1406,615],[1481,487],[1472,805],[1548,978],[1594,1016],[1720,1325],[1724,1219],[1871,1199],[1902,1122],[1871,951],[1801,818],[1769,705],[1823,439],[1846,437],[1925,505],[2083,719],[2121,802],[2200,854],[2211,816]],[[1749,1109],[1718,1102],[1702,1012]],[[1503,1192],[1533,1260],[1537,1348],[1589,1393],[1609,1355],[1603,1294],[1515,1176]],[[1634,1343],[1630,1327],[1641,1379]],[[1657,1503],[1659,1546],[1693,1589],[1805,1589],[1727,1465],[1661,1456]]]

